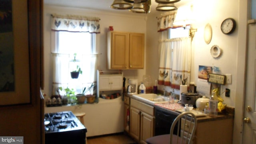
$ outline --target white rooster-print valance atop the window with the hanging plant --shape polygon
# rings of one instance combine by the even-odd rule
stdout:
[[[100,18],[52,14],[52,30],[100,33]]]

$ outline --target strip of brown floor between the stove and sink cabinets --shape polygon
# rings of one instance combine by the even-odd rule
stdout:
[[[137,144],[127,134],[114,134],[100,137],[87,138],[87,144]]]

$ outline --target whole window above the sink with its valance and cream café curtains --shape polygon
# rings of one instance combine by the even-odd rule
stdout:
[[[158,32],[161,32],[158,84],[180,89],[180,85],[190,83],[192,48],[188,30],[172,26],[175,15],[169,12],[158,17]]]

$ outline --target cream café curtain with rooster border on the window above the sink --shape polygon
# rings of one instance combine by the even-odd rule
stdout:
[[[158,84],[176,89],[189,85],[191,52],[191,38],[160,40]]]

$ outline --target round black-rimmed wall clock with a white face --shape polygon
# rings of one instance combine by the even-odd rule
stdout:
[[[225,19],[220,26],[223,34],[231,34],[236,29],[236,21],[233,18]]]

